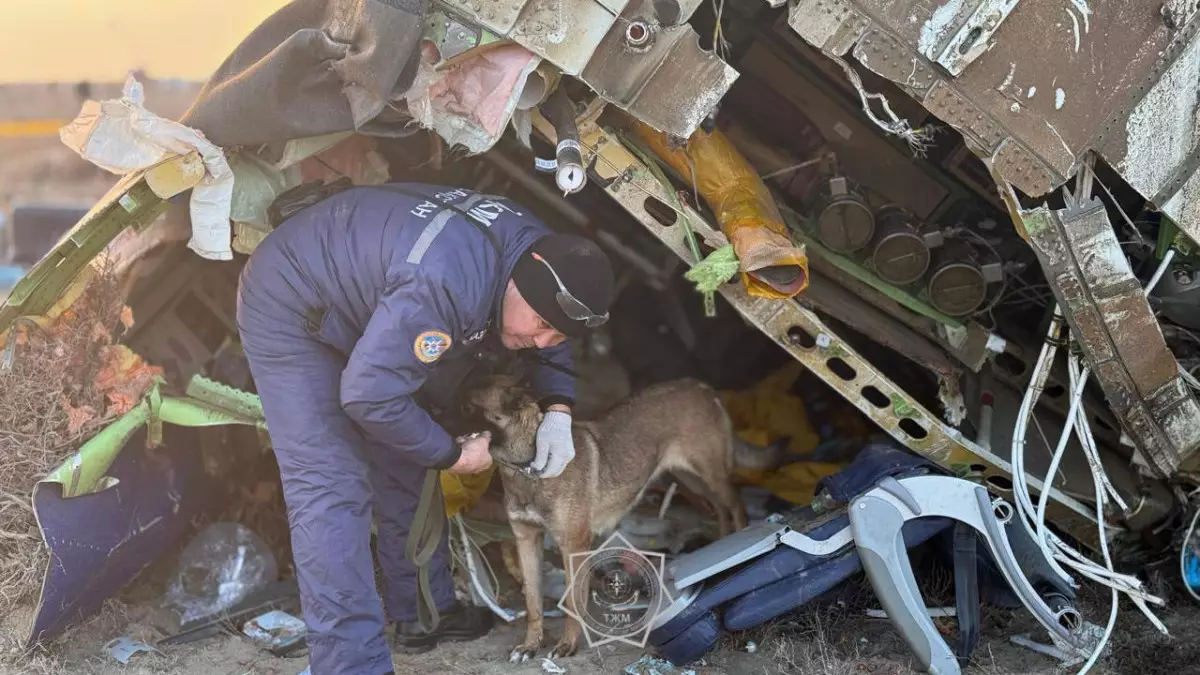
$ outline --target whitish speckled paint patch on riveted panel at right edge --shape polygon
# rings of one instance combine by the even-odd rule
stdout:
[[[1118,168],[1139,192],[1157,195],[1196,141],[1200,40],[1193,40],[1126,123],[1126,156]]]

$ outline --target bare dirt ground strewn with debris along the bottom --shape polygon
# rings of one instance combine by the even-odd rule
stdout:
[[[737,635],[722,638],[719,647],[689,669],[698,675],[794,674],[794,675],[916,675],[913,658],[884,620],[868,619],[862,605],[872,605],[869,591],[853,586],[841,604],[805,610],[787,620]],[[28,616],[7,617],[0,623],[0,674],[2,675],[296,675],[307,661],[276,658],[238,634],[209,638],[194,644],[162,647],[161,653],[140,653],[122,665],[102,652],[110,639],[128,635],[154,643],[163,637],[154,628],[154,611],[146,605],[125,604],[126,599],[145,598],[152,589],[143,585],[113,601],[100,616],[72,629],[43,651],[19,655],[11,629]],[[1088,620],[1104,623],[1106,597],[1085,595]],[[926,599],[928,596],[926,596]],[[1093,607],[1094,605],[1094,607]],[[851,609],[853,608],[853,609]],[[1160,613],[1172,631],[1164,638],[1129,604],[1118,615],[1112,647],[1092,670],[1099,675],[1168,674],[1200,671],[1200,610],[1182,603],[1176,611]],[[550,620],[548,639],[562,629],[560,620]],[[949,631],[953,621],[942,622]],[[1030,632],[1044,641],[1032,619],[1022,613],[991,610],[984,616],[984,639],[967,675],[1051,675],[1075,673],[1058,669],[1057,663],[1008,641],[1014,634]],[[485,639],[444,646],[416,657],[397,656],[397,675],[452,673],[462,675],[533,675],[551,673],[540,661],[510,664],[509,650],[520,643],[523,621],[498,623]],[[751,646],[752,644],[752,646]],[[581,649],[580,653],[553,664],[569,675],[610,675],[643,655],[629,645],[604,645]],[[685,673],[689,669],[680,669]],[[662,673],[662,675],[670,675]]]

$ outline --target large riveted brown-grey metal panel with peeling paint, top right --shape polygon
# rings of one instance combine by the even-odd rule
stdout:
[[[1194,2],[797,0],[791,28],[901,86],[1031,197],[1096,150],[1200,239]]]

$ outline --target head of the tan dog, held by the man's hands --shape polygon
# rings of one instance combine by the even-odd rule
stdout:
[[[518,378],[511,375],[482,378],[463,394],[462,413],[492,432],[493,456],[517,465],[533,460],[541,410]]]

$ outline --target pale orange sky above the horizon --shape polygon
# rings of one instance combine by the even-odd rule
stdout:
[[[286,0],[0,0],[0,83],[203,80]]]

